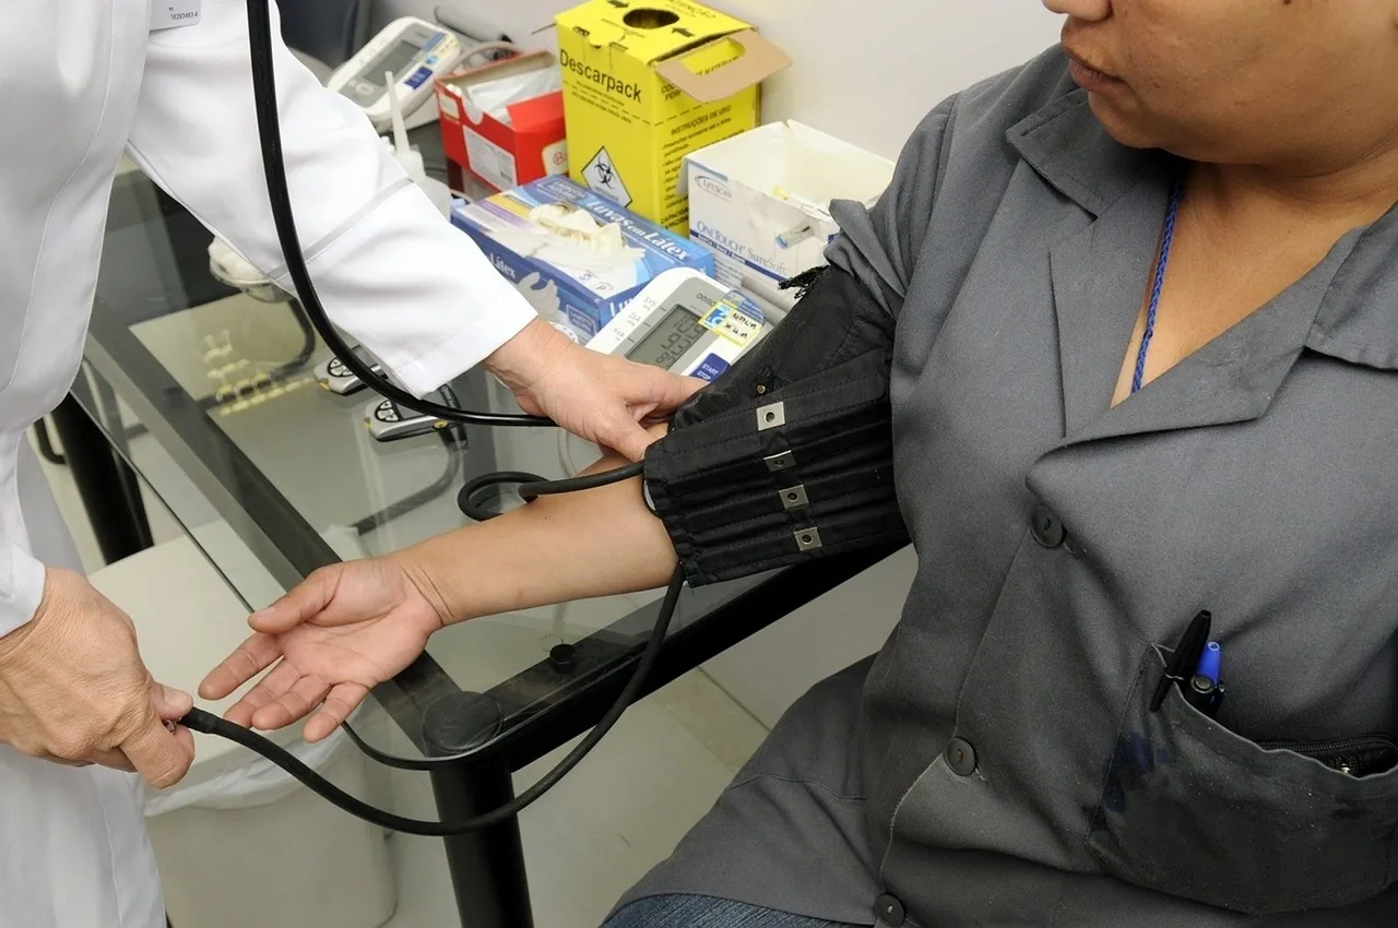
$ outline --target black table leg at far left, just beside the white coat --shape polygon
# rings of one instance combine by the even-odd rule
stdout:
[[[150,548],[151,525],[145,519],[137,477],[112,450],[102,429],[73,394],[63,398],[52,419],[102,559],[115,563]]]

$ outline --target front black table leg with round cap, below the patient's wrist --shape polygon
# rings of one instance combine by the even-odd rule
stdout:
[[[424,734],[433,751],[454,755],[492,738],[500,718],[489,696],[456,693],[425,713]],[[435,767],[432,792],[442,820],[459,822],[509,802],[514,785],[505,759],[495,756]],[[534,928],[517,819],[445,841],[461,928]]]

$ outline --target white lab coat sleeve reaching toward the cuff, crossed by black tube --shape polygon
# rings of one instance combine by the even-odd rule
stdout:
[[[263,173],[245,4],[204,0],[199,25],[151,34],[129,152],[207,228],[292,289]],[[280,36],[275,7],[273,31]],[[355,103],[323,88],[280,38],[274,60],[298,233],[337,327],[424,396],[535,319],[407,177]]]

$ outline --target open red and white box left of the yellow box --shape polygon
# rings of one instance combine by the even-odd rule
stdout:
[[[566,173],[568,133],[561,89],[507,105],[507,120],[481,110],[470,98],[470,88],[556,67],[551,53],[533,52],[439,80],[436,99],[447,161],[495,191]],[[457,183],[456,189],[463,184]]]

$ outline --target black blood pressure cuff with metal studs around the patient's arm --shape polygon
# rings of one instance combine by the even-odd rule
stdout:
[[[677,409],[644,492],[692,586],[907,542],[893,489],[893,319],[839,268]]]

